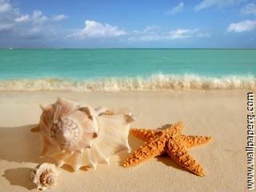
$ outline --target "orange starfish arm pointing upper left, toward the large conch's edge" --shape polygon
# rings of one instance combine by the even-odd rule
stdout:
[[[146,129],[130,129],[130,132],[134,134],[136,138],[142,139],[145,142],[149,142],[155,136],[162,133],[162,130],[146,130]]]

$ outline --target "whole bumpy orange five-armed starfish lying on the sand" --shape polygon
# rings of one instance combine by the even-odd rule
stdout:
[[[123,166],[137,166],[139,163],[161,154],[168,154],[179,166],[198,175],[204,176],[202,166],[194,160],[187,149],[210,141],[207,136],[186,136],[182,134],[183,123],[168,125],[164,130],[131,129],[131,133],[145,141],[145,145],[134,151]]]

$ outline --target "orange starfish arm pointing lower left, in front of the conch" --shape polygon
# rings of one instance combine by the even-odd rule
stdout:
[[[134,151],[134,154],[127,158],[123,163],[123,166],[137,166],[140,162],[146,161],[150,158],[154,158],[162,154],[166,144],[166,138],[154,139],[150,142],[146,142],[144,146]]]

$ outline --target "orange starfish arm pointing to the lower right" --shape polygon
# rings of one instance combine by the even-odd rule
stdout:
[[[205,175],[202,166],[190,156],[186,147],[182,145],[182,142],[179,141],[178,138],[172,138],[168,141],[166,152],[179,166],[184,167],[186,170],[190,170],[190,172],[197,174],[198,176]]]

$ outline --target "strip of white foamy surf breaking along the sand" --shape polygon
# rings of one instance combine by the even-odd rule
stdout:
[[[1,91],[119,91],[119,90],[256,90],[256,77],[226,76],[221,78],[194,74],[154,74],[146,77],[98,78],[68,80],[65,78],[39,78],[0,81]]]

